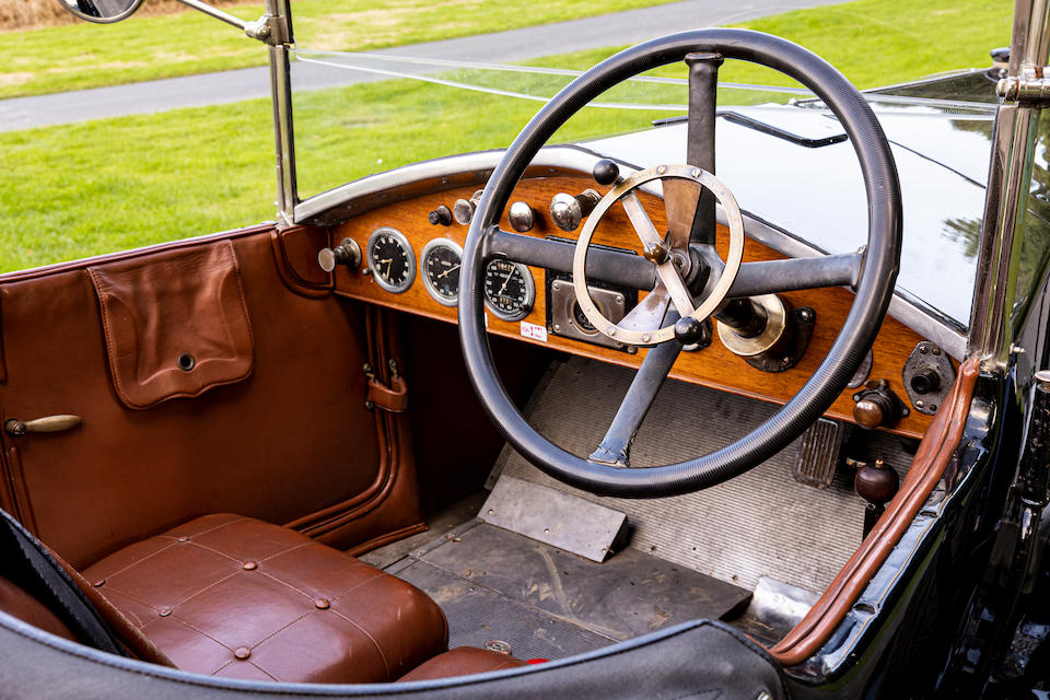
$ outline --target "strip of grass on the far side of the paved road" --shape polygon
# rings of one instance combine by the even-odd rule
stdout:
[[[672,1],[545,0],[529,2],[523,11],[522,3],[506,0],[303,0],[294,3],[293,20],[301,46],[362,51]],[[262,15],[261,2],[223,9],[244,20]],[[196,11],[0,36],[0,98],[264,66],[267,60],[259,42]]]

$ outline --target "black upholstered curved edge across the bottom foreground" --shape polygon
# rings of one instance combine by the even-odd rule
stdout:
[[[696,620],[587,654],[438,680],[335,686],[230,680],[106,654],[0,612],[0,688],[13,697],[112,698],[788,698],[782,670],[732,628]],[[718,660],[718,663],[714,663]],[[715,696],[712,696],[715,697]]]

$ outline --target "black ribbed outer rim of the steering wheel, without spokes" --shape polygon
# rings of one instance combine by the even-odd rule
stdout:
[[[503,388],[485,326],[483,238],[498,223],[526,166],[573,114],[632,75],[701,51],[779,70],[810,89],[838,117],[856,153],[867,194],[868,243],[856,296],[816,372],[777,413],[740,440],[697,459],[661,467],[637,469],[595,464],[540,435]],[[508,442],[551,477],[592,493],[621,498],[698,491],[743,474],[783,450],[845,388],[889,307],[899,267],[900,236],[900,185],[889,143],[868,104],[830,63],[796,44],[749,30],[697,30],[653,39],[606,59],[558,93],[529,120],[493,171],[467,234],[460,270],[459,339],[467,373],[486,412]]]

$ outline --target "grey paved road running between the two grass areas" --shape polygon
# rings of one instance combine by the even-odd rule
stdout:
[[[523,30],[413,44],[377,52],[511,62],[602,46],[633,44],[684,28],[728,24],[841,1],[686,0]],[[135,22],[135,19],[130,21]],[[231,27],[231,31],[234,30]],[[262,50],[261,46],[259,50]],[[360,71],[311,70],[303,81],[296,82],[296,89],[327,88],[376,79],[375,75]],[[269,94],[268,69],[260,67],[37,97],[0,100],[0,131],[241,102],[267,97]]]

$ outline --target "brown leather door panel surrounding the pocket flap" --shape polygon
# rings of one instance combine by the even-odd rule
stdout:
[[[411,455],[398,471],[392,455],[404,451],[385,444],[390,417],[364,404],[364,307],[295,293],[288,270],[278,269],[284,261],[271,233],[229,236],[250,319],[250,371],[194,397],[175,392],[178,397],[143,409],[126,406],[114,388],[98,296],[86,270],[110,261],[0,279],[0,419],[83,418],[65,432],[3,434],[0,494],[73,565],[205,513],[308,525],[313,513],[330,521],[339,504],[382,511],[376,500],[392,491],[395,474],[411,481],[395,499],[397,513],[381,512],[380,525],[351,528],[334,544],[350,547],[384,528],[418,522]],[[229,245],[215,241],[159,246],[119,265],[132,258],[147,272],[155,264],[158,271],[177,273],[160,261]],[[187,325],[149,323],[168,334]]]

